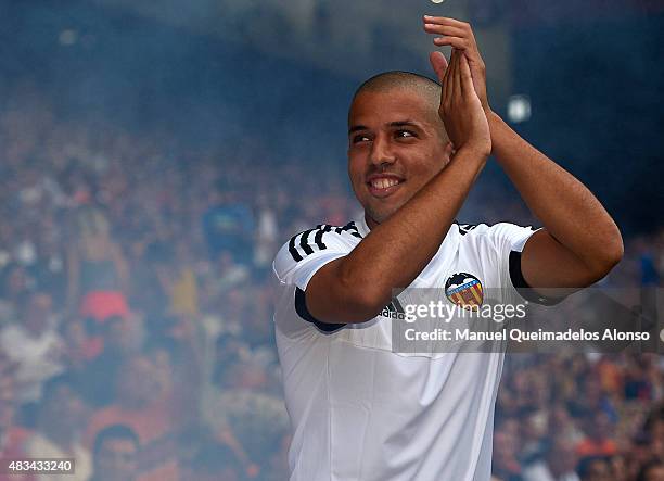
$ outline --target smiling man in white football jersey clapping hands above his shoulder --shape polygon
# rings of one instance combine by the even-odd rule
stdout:
[[[454,47],[449,65],[430,58],[442,88],[387,73],[350,105],[348,174],[363,218],[306,230],[274,260],[291,480],[488,480],[503,356],[393,352],[393,289],[471,274],[503,301],[528,286],[548,303],[551,288],[589,286],[622,257],[588,189],[490,110],[470,26],[425,16],[424,29]],[[490,153],[545,228],[454,221]]]

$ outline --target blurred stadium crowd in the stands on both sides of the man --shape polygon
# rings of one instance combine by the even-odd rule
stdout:
[[[192,148],[8,102],[0,458],[75,458],[69,481],[286,479],[271,261],[360,211],[343,168],[276,161],[255,137]],[[510,202],[475,220],[523,212]],[[663,229],[626,239],[609,281],[660,286],[663,245]],[[662,481],[663,402],[662,356],[510,355],[495,479]]]

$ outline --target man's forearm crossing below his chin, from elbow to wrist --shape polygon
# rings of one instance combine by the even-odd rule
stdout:
[[[361,287],[379,308],[390,302],[392,289],[409,286],[437,252],[485,163],[485,153],[459,150],[344,258],[340,270],[347,284]]]

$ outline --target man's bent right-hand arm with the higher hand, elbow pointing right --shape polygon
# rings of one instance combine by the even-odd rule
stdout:
[[[547,288],[573,292],[604,277],[623,256],[621,232],[611,216],[579,180],[491,111],[484,62],[469,24],[425,16],[424,30],[442,35],[434,39],[436,46],[452,46],[469,59],[473,84],[489,121],[491,153],[545,226],[523,249],[525,281],[546,295]]]

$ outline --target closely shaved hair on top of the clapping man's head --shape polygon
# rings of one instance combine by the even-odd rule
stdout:
[[[350,110],[353,110],[353,103],[355,100],[365,92],[371,93],[388,93],[394,90],[406,90],[411,91],[426,102],[426,104],[431,105],[431,118],[439,126],[439,134],[443,139],[447,139],[447,134],[445,132],[445,126],[443,125],[443,121],[438,116],[438,106],[440,105],[440,93],[442,88],[440,84],[435,80],[432,80],[429,77],[420,74],[413,74],[412,72],[401,72],[401,71],[392,71],[384,72],[382,74],[374,75],[373,77],[366,80],[361,84],[355,94],[353,96],[353,101],[350,102],[350,109],[348,110],[348,119],[350,118]]]

